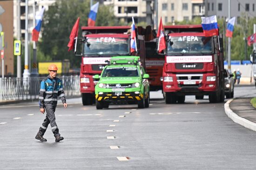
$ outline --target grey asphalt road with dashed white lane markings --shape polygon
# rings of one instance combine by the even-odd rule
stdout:
[[[236,87],[235,97],[255,92],[253,86]],[[64,137],[59,143],[50,126],[47,142],[34,139],[45,117],[37,102],[0,106],[0,169],[256,169],[256,132],[230,120],[224,103],[188,96],[185,104],[166,105],[161,92],[150,96],[145,109],[96,110],[82,106],[80,98],[67,100],[67,109],[56,109]]]

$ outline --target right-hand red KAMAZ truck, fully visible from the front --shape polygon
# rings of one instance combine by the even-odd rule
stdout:
[[[223,45],[219,36],[205,37],[202,25],[164,26],[167,49],[163,65],[165,102],[184,103],[186,95],[224,101]]]

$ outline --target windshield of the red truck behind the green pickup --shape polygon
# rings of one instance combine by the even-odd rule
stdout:
[[[127,38],[87,38],[84,44],[84,55],[128,55]]]

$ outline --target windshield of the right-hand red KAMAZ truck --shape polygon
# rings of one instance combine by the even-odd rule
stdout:
[[[210,53],[212,52],[212,39],[211,37],[201,36],[181,36],[171,37],[168,40],[167,53]]]

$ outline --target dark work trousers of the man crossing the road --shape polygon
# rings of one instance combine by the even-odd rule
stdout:
[[[57,102],[54,103],[45,103],[45,109],[46,109],[46,118],[42,124],[42,126],[39,128],[39,134],[41,136],[44,135],[46,132],[47,126],[51,124],[52,132],[54,133],[54,136],[61,136],[59,133],[59,128],[55,122],[55,108],[57,106]]]

